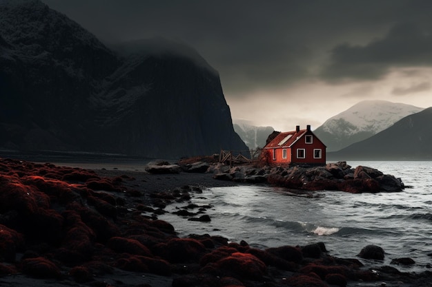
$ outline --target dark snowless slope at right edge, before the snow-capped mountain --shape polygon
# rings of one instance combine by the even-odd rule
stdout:
[[[334,153],[337,160],[432,160],[432,107]]]

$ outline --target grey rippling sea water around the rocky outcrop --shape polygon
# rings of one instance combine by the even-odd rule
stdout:
[[[411,257],[404,272],[422,272],[432,264],[432,162],[348,162],[402,178],[406,189],[393,193],[295,191],[265,185],[204,189],[192,202],[206,209],[211,222],[188,221],[170,213],[159,216],[181,237],[222,235],[256,248],[304,246],[324,242],[329,254],[355,258],[369,244],[385,251],[383,264]],[[167,207],[175,211],[185,203]],[[371,262],[368,262],[371,264]]]

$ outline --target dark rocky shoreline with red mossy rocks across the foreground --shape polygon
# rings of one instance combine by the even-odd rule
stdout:
[[[380,266],[379,246],[359,250],[377,263],[371,268],[331,256],[322,242],[262,250],[207,234],[178,237],[157,219],[167,204],[260,176],[237,180],[251,168],[228,167],[233,178],[216,180],[221,167],[206,164],[150,164],[149,173],[0,158],[0,286],[432,286],[427,270]]]

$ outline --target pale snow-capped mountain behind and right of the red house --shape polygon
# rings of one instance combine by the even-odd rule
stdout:
[[[364,100],[329,118],[313,132],[327,146],[327,151],[338,151],[369,138],[422,109],[386,100]]]

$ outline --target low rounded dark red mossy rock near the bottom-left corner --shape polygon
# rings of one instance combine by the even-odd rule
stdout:
[[[43,257],[23,259],[23,273],[35,278],[59,278],[60,269],[50,260]]]

